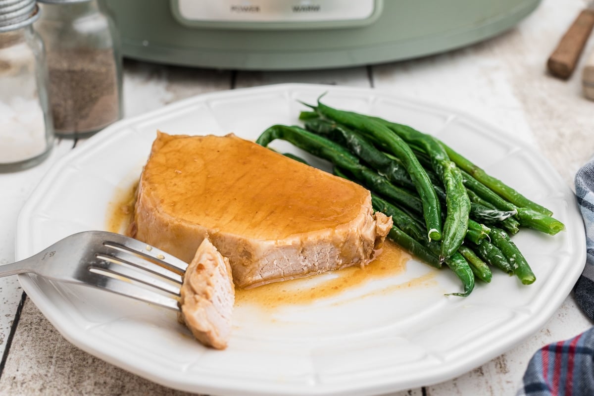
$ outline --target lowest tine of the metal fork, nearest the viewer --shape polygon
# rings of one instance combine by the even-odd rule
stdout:
[[[132,299],[179,311],[178,300],[144,289],[144,287],[133,283],[114,278],[110,276],[109,273],[91,273],[90,271],[87,271],[84,277],[81,277],[80,280],[83,281],[86,286],[107,290],[108,292],[120,294],[121,296],[131,297]]]

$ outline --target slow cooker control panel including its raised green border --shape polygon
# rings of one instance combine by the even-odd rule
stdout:
[[[371,23],[381,0],[172,0],[172,11],[188,26],[331,28]]]

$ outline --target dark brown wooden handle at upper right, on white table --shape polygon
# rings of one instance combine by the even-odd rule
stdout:
[[[594,27],[594,11],[584,9],[561,37],[546,65],[555,77],[567,79],[576,68],[577,59]]]

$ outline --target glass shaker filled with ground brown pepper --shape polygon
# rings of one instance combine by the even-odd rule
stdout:
[[[0,0],[1,1],[1,0]],[[122,117],[122,60],[112,18],[97,0],[40,0],[56,135],[85,137]]]

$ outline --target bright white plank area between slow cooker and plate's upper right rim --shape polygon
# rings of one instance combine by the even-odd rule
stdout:
[[[375,88],[453,107],[534,144],[508,65],[495,55],[495,48],[507,48],[514,34],[429,58],[372,66]]]

